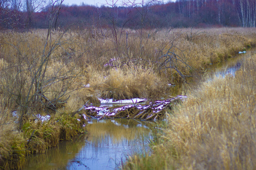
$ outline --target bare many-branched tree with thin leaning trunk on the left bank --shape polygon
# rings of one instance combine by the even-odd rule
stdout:
[[[58,6],[61,6],[63,0]],[[6,98],[10,103],[15,103],[18,106],[19,112],[19,129],[22,128],[24,117],[33,108],[47,108],[56,111],[57,107],[65,103],[69,96],[67,90],[71,86],[72,80],[76,78],[76,69],[71,67],[67,71],[63,71],[60,66],[56,68],[55,73],[48,73],[48,65],[53,58],[53,53],[61,49],[62,38],[64,33],[59,35],[57,39],[52,39],[52,25],[60,10],[53,10],[56,6],[56,1],[52,1],[52,11],[49,14],[49,28],[46,36],[43,51],[35,54],[31,58],[29,54],[22,53],[18,45],[6,44],[13,46],[17,56],[15,62],[8,62],[5,69],[1,70],[1,92],[5,93]],[[58,84],[58,85],[56,85]],[[60,86],[59,90],[52,92],[53,97],[49,99],[47,94],[49,89],[54,86]]]

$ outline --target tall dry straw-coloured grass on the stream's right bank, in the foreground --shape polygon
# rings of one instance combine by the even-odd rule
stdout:
[[[256,54],[236,76],[214,78],[188,93],[168,117],[152,155],[123,169],[255,169]]]

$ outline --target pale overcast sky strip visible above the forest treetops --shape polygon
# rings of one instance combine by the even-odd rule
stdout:
[[[108,0],[109,2],[112,2],[112,0]],[[116,0],[115,0],[116,1]],[[123,0],[118,0],[119,3],[122,3]],[[164,3],[172,1],[174,2],[175,0],[163,0]],[[85,5],[94,5],[94,6],[102,6],[106,4],[105,0],[64,0],[65,5],[81,5],[82,2],[84,2]]]

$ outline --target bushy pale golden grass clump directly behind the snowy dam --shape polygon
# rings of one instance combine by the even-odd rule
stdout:
[[[133,63],[91,74],[89,84],[96,87],[101,97],[115,100],[141,97],[157,99],[167,90],[167,81],[150,68]]]

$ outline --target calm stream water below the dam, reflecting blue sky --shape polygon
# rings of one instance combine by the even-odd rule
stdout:
[[[115,169],[127,155],[148,151],[150,126],[138,120],[92,120],[88,134],[31,156],[25,169]]]

